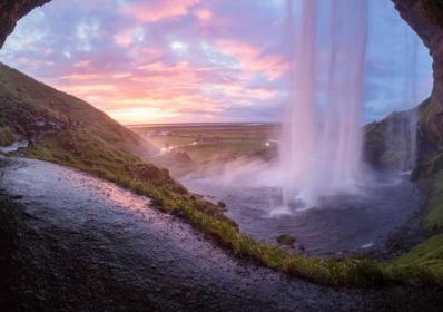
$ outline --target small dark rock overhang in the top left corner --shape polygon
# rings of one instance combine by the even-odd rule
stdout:
[[[2,0],[0,1],[0,48],[8,35],[12,32],[16,23],[33,8],[42,6],[50,0]]]

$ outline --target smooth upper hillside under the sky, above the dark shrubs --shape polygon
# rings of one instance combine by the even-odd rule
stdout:
[[[95,139],[106,140],[140,157],[147,156],[152,148],[140,136],[89,104],[0,64],[0,127],[7,126],[24,135],[37,118],[65,125],[65,128],[81,128]]]

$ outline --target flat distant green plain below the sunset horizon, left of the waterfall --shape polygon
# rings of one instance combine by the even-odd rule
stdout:
[[[187,124],[130,127],[169,155],[159,163],[173,173],[204,170],[239,157],[269,160],[276,155],[277,124]],[[174,155],[186,156],[174,157]],[[184,162],[184,158],[187,162]]]

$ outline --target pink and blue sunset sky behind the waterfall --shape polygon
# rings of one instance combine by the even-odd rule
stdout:
[[[279,121],[286,19],[286,0],[53,0],[19,21],[0,61],[127,125]],[[371,0],[362,121],[431,87],[427,50],[391,1]]]

